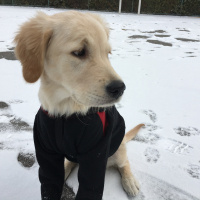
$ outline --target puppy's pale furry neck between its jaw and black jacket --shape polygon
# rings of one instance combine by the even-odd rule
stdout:
[[[70,116],[74,113],[86,114],[90,109],[88,106],[75,102],[64,87],[48,81],[46,76],[41,76],[39,100],[43,109],[53,116]]]

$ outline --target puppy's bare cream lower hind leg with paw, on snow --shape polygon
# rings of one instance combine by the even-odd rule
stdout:
[[[129,196],[136,196],[139,192],[139,184],[134,178],[129,161],[123,167],[118,167],[118,170],[122,176],[122,186]]]

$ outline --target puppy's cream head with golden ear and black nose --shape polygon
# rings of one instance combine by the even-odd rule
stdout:
[[[59,86],[78,104],[110,106],[125,85],[110,64],[108,39],[109,28],[97,15],[38,13],[16,35],[15,54],[27,82],[42,77],[42,83]]]

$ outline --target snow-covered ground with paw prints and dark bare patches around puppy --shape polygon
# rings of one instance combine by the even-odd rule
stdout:
[[[40,199],[31,132],[39,83],[25,83],[12,60],[15,32],[37,10],[64,11],[0,7],[0,200]],[[127,86],[119,112],[127,130],[146,124],[127,144],[141,186],[134,200],[199,200],[200,18],[98,13],[110,24],[111,63]],[[77,191],[77,169],[67,184]],[[103,199],[129,199],[115,169]]]

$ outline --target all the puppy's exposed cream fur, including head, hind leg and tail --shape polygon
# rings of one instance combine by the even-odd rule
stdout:
[[[51,115],[87,113],[90,107],[108,107],[120,100],[111,98],[105,88],[121,80],[112,68],[108,54],[109,28],[95,14],[69,11],[48,16],[39,12],[24,23],[15,37],[15,54],[23,66],[24,79],[40,79],[39,99]],[[81,52],[85,55],[80,57]],[[77,56],[78,55],[78,56]],[[132,139],[138,125],[124,138],[108,166],[117,166],[125,191],[139,191],[126,155],[126,141]],[[75,166],[66,160],[65,174]]]

